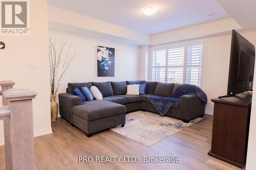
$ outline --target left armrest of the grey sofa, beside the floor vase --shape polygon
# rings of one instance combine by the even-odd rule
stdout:
[[[73,124],[73,107],[82,105],[82,99],[70,93],[60,93],[59,114]]]

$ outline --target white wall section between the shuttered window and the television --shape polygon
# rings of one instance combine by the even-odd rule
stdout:
[[[206,113],[212,114],[214,103],[210,101],[227,94],[231,34],[207,38],[204,91],[207,94]]]

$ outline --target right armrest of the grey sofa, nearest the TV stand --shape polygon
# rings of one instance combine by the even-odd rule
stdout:
[[[180,97],[180,111],[183,119],[190,120],[204,114],[205,105],[195,95],[182,95]]]

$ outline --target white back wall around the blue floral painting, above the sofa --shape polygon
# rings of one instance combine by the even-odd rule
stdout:
[[[49,37],[56,44],[67,41],[76,52],[74,60],[60,83],[59,93],[65,92],[69,82],[104,82],[139,79],[139,46],[109,41],[92,36],[50,28]],[[115,48],[115,77],[97,77],[97,45]],[[65,53],[63,53],[65,54]]]

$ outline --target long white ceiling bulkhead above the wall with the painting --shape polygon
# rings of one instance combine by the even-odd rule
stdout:
[[[48,15],[50,26],[55,29],[72,31],[90,36],[93,35],[96,37],[106,37],[106,39],[115,39],[137,45],[150,44],[151,42],[150,35],[145,33],[53,6],[48,6]]]

